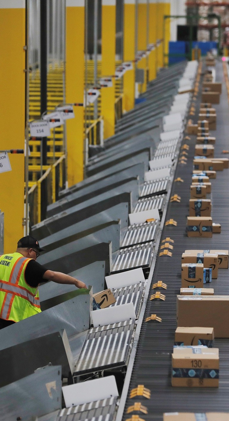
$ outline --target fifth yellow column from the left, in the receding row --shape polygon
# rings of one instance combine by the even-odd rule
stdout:
[[[138,0],[137,26],[137,49],[138,51],[145,51],[147,48],[147,0]],[[137,67],[145,70],[145,80],[144,83],[140,85],[140,92],[145,92],[147,86],[147,58],[141,59]]]

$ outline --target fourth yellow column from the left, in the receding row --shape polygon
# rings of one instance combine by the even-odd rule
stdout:
[[[124,0],[124,42],[123,60],[133,61],[135,57],[135,0]],[[128,70],[123,77],[123,110],[134,108],[135,69]]]

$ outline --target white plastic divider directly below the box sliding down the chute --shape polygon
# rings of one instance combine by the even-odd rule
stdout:
[[[113,323],[135,320],[136,314],[134,304],[121,304],[120,306],[107,307],[106,309],[94,310],[91,312],[94,328],[99,326],[112,325]]]

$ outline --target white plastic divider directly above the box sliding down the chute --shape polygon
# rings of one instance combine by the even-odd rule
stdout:
[[[112,291],[119,288],[126,288],[131,285],[140,284],[145,282],[144,273],[141,267],[125,272],[115,273],[113,275],[105,276],[107,288]]]

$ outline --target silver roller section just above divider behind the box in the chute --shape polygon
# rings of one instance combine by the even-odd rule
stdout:
[[[137,267],[150,267],[153,257],[152,248],[153,242],[148,242],[144,245],[135,245],[121,249],[116,255],[111,273],[122,272]]]

